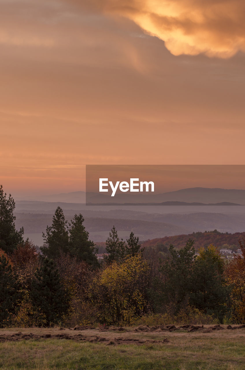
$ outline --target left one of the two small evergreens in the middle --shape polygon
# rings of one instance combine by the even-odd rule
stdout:
[[[108,261],[118,261],[125,256],[125,242],[120,240],[117,235],[115,226],[111,229],[109,236],[105,242],[106,251],[109,253]]]

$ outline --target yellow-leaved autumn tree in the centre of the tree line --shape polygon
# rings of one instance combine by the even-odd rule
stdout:
[[[148,273],[141,255],[113,261],[95,274],[88,289],[88,298],[97,309],[101,323],[130,325],[147,310],[142,275]]]

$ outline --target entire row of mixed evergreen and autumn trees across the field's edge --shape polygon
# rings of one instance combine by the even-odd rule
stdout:
[[[226,261],[214,245],[141,248],[113,226],[101,264],[81,214],[67,222],[60,207],[43,233],[41,253],[14,225],[14,199],[0,186],[0,326],[131,325],[143,318],[245,321],[242,257]],[[150,320],[150,319],[149,319]]]

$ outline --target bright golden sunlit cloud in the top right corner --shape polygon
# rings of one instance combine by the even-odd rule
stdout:
[[[84,0],[82,4],[133,20],[164,40],[174,55],[228,58],[245,51],[244,0]]]

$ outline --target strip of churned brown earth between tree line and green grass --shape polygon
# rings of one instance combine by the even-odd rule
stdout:
[[[240,330],[239,330],[240,329]],[[21,330],[21,331],[18,331]],[[212,336],[227,336],[234,335],[245,336],[245,325],[159,325],[147,326],[140,325],[138,327],[122,327],[122,326],[101,326],[94,328],[92,326],[78,326],[75,328],[37,328],[31,329],[1,329],[0,342],[16,342],[20,340],[40,340],[44,339],[66,339],[76,342],[102,342],[105,344],[144,344],[144,343],[167,343],[168,340],[174,338],[188,336],[212,335]],[[207,334],[205,334],[207,333]],[[208,334],[209,333],[209,334]],[[237,333],[237,334],[236,334]],[[167,336],[168,338],[165,338]],[[172,339],[171,339],[172,338]]]

